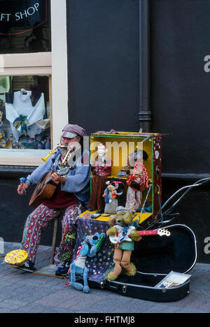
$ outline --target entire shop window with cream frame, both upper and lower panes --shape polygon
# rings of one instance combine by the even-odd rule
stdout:
[[[69,119],[66,0],[0,0],[0,6],[0,170],[39,166]],[[29,106],[15,113],[16,99]]]

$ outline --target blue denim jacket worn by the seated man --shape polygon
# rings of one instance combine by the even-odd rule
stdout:
[[[89,152],[85,150],[83,155],[76,161],[75,166],[71,168],[68,175],[66,175],[66,182],[61,184],[62,191],[73,193],[80,201],[87,203],[90,200],[90,164],[83,165],[82,158],[84,154]],[[31,175],[27,177],[27,184],[37,184],[46,173],[49,173],[53,169],[56,162],[59,160],[61,152],[58,150],[55,154],[52,154],[46,163],[36,168]]]

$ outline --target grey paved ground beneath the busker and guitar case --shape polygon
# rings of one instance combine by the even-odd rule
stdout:
[[[5,243],[4,252],[19,247],[18,243]],[[36,268],[50,264],[50,250],[50,247],[39,247]],[[155,303],[109,290],[90,289],[90,293],[85,294],[66,286],[65,279],[11,268],[1,257],[0,313],[73,313],[80,314],[80,319],[82,314],[96,317],[94,314],[210,313],[210,265],[197,263],[190,275],[190,294],[186,298],[172,303]]]

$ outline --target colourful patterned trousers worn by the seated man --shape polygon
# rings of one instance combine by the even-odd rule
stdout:
[[[41,235],[56,217],[62,217],[62,241],[55,256],[55,263],[71,261],[76,242],[76,218],[83,211],[84,208],[80,203],[65,209],[52,209],[39,205],[27,218],[23,232],[21,249],[28,253],[29,261],[35,263]]]

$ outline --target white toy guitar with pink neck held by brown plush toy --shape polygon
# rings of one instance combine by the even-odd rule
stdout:
[[[109,236],[109,240],[111,243],[113,244],[119,244],[121,242],[132,242],[132,239],[130,238],[130,233],[132,230],[136,229],[135,227],[128,227],[126,231],[123,231],[123,227],[116,225],[113,226],[114,228],[118,229],[118,232],[116,233],[116,235],[113,236]],[[139,233],[139,235],[141,236],[150,236],[150,235],[160,235],[160,236],[171,236],[171,233],[169,231],[167,231],[166,229],[157,229],[156,231],[137,231]]]

